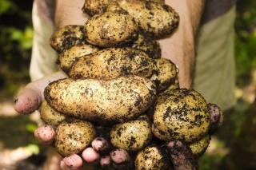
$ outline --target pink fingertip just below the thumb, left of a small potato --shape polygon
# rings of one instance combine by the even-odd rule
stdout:
[[[42,125],[34,131],[34,136],[42,144],[51,144],[54,141],[56,132],[51,125]]]

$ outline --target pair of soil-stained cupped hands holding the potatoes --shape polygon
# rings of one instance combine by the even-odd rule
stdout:
[[[20,114],[33,113],[42,103],[43,91],[46,85],[65,77],[65,73],[57,72],[26,85],[14,99],[14,109]],[[211,113],[211,123],[215,125],[219,121],[219,119],[216,119],[219,115],[216,114],[218,112]],[[211,127],[214,127],[214,125]],[[211,131],[215,130],[212,129]],[[34,136],[42,144],[52,144],[55,134],[54,128],[50,125],[42,125],[34,131]],[[172,140],[166,144],[166,147],[170,150],[170,160],[175,170],[198,168],[197,158],[192,156],[190,149],[182,141]],[[102,153],[104,154],[102,155]],[[79,169],[82,168],[83,160],[89,164],[99,162],[102,167],[114,166],[115,168],[124,169],[123,167],[128,167],[132,159],[126,150],[111,149],[109,141],[97,137],[92,141],[91,147],[82,152],[82,157],[77,154],[66,156],[62,159],[60,166],[62,169]]]

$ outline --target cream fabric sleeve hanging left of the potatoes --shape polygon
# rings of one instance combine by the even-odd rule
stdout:
[[[34,39],[32,56],[30,61],[30,78],[31,81],[35,81],[41,77],[45,77],[50,73],[54,73],[58,70],[56,64],[57,53],[50,47],[50,36],[54,32],[54,22],[52,19],[47,18],[47,6],[42,6],[38,2],[42,3],[43,0],[34,1],[32,10],[32,21],[34,26]],[[41,9],[40,9],[41,7]],[[51,8],[52,9],[52,6]]]

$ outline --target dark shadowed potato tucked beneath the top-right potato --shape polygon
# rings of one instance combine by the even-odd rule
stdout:
[[[142,34],[138,34],[138,39],[133,43],[132,47],[144,51],[150,58],[157,59],[161,57],[159,43]]]

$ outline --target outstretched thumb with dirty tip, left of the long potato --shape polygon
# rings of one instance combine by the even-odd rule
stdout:
[[[14,99],[14,109],[21,114],[34,112],[42,102],[43,91],[46,85],[64,77],[66,77],[65,73],[57,72],[26,85],[25,89],[22,89]]]

